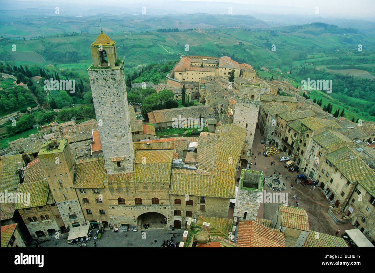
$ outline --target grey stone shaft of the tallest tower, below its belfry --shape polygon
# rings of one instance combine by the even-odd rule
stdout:
[[[123,65],[87,71],[96,120],[102,124],[98,129],[107,173],[130,172],[133,170],[134,151]]]

